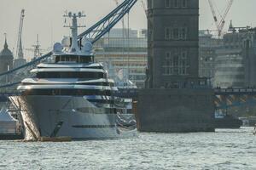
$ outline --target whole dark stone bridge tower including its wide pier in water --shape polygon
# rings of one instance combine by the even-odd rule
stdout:
[[[148,0],[148,71],[138,92],[142,132],[213,132],[213,90],[198,77],[199,0]]]

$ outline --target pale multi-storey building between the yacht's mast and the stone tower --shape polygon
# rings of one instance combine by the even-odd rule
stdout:
[[[111,67],[121,79],[129,79],[144,88],[147,67],[147,31],[113,29],[94,48],[96,61]]]

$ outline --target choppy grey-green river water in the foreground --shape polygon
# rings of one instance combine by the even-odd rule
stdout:
[[[256,170],[253,128],[217,133],[139,133],[136,139],[0,141],[0,169]]]

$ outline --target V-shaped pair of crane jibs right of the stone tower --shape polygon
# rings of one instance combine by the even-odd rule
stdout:
[[[224,25],[225,25],[225,19],[227,17],[227,14],[230,11],[230,8],[232,4],[234,3],[234,0],[229,0],[227,7],[224,10],[224,14],[221,16],[221,20],[218,21],[217,14],[215,12],[215,8],[213,6],[212,0],[208,0],[210,8],[212,10],[213,20],[216,25],[216,28],[218,30],[218,37],[221,37],[223,35]]]

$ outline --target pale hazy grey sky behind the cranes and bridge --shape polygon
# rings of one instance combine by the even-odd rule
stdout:
[[[218,10],[222,11],[228,0],[213,1]],[[70,34],[69,29],[63,28],[62,14],[65,10],[84,11],[87,17],[80,23],[91,26],[115,7],[113,0],[0,0],[0,49],[3,48],[4,32],[8,34],[9,48],[16,47],[21,8],[26,10],[23,46],[32,48],[32,44],[36,42],[36,35],[39,34],[42,48],[49,48],[52,42],[60,42],[64,35]],[[256,26],[255,7],[256,0],[235,0],[227,17],[226,29],[229,20],[233,20],[235,26]],[[200,0],[200,14],[200,28],[215,29],[207,0]],[[139,0],[131,10],[130,26],[135,29],[147,27],[146,16]],[[25,51],[25,54],[32,53]]]

